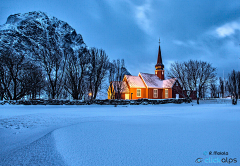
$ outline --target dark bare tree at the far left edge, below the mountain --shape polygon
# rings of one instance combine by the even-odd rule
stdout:
[[[30,70],[26,69],[28,63],[25,55],[9,49],[2,52],[0,61],[1,98],[21,99],[30,91],[27,77]]]

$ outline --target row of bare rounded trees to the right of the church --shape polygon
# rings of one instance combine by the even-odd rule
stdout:
[[[197,98],[203,98],[208,90],[212,97],[240,97],[240,72],[233,70],[225,81],[221,77],[217,78],[216,68],[208,62],[174,62],[170,66],[168,77],[178,79],[182,89],[176,90],[184,97],[187,97],[186,91],[189,91],[189,95],[195,93]]]

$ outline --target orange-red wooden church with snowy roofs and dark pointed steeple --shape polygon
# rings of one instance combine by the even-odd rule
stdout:
[[[114,81],[108,88],[108,99],[168,99],[179,98],[173,89],[178,87],[177,79],[165,79],[164,65],[159,42],[155,74],[139,73],[138,76],[125,75],[121,82]]]

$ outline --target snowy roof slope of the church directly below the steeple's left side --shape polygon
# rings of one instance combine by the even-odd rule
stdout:
[[[163,88],[163,81],[155,74],[139,73],[148,88]]]

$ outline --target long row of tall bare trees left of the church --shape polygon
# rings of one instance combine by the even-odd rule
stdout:
[[[71,96],[79,100],[88,94],[95,99],[107,73],[115,75],[118,69],[120,60],[109,62],[102,49],[58,48],[46,45],[24,53],[1,50],[0,99],[19,100],[26,96],[36,99],[47,95],[49,99]],[[122,63],[124,66],[123,60]]]

